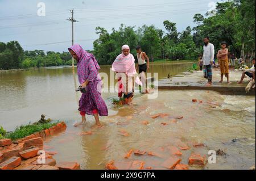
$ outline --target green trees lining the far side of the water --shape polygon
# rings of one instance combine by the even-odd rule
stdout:
[[[177,32],[176,23],[165,20],[165,30],[155,26],[126,27],[121,24],[118,30],[109,33],[97,27],[98,39],[93,43],[91,53],[102,64],[112,64],[121,53],[123,44],[130,46],[136,55],[135,47],[141,45],[151,61],[195,59],[203,53],[203,38],[210,37],[210,43],[217,50],[221,41],[228,43],[229,52],[237,57],[255,56],[255,0],[230,0],[217,3],[216,10],[205,15],[195,14],[194,28],[187,27]],[[43,50],[24,51],[17,41],[0,42],[0,69],[31,68],[55,65],[71,65],[68,52],[44,52]]]

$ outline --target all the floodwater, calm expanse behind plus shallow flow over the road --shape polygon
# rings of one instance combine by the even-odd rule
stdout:
[[[190,65],[153,65],[159,78],[169,71],[179,74]],[[101,71],[109,71],[102,66]],[[152,71],[152,69],[151,69]],[[0,79],[0,124],[13,129],[16,125],[35,121],[40,114],[56,120],[65,120],[68,127],[63,133],[46,140],[46,149],[57,151],[56,161],[77,161],[81,169],[104,169],[114,161],[119,168],[126,168],[132,161],[145,162],[144,167],[165,169],[163,162],[173,156],[170,148],[187,145],[181,150],[181,163],[187,164],[191,153],[208,158],[208,151],[223,150],[216,163],[189,169],[249,169],[255,165],[255,96],[221,95],[214,91],[159,91],[157,99],[136,94],[132,106],[114,106],[111,100],[117,93],[104,93],[109,116],[101,117],[103,127],[93,128],[93,116],[87,122],[73,127],[80,121],[72,70],[40,69],[2,73]],[[192,99],[202,100],[193,103]],[[166,116],[151,116],[166,113]],[[177,117],[183,118],[178,119]],[[148,124],[142,124],[148,121]],[[92,134],[81,136],[81,132]],[[128,135],[123,136],[122,132]],[[237,138],[236,141],[232,141]],[[195,148],[193,144],[205,146]],[[156,156],[132,154],[130,149],[152,151]]]

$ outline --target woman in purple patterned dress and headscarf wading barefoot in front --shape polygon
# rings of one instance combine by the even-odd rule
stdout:
[[[82,121],[74,126],[85,123],[85,114],[94,115],[96,125],[100,126],[98,116],[108,116],[108,108],[101,97],[101,77],[98,74],[100,66],[93,54],[86,52],[80,45],[73,45],[68,50],[72,57],[77,60],[79,83],[86,90],[79,100]]]

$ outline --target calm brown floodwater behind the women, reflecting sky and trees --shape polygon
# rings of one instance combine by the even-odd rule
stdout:
[[[191,63],[155,64],[148,72],[158,72],[159,78],[164,78],[170,72],[175,75],[189,66]],[[101,66],[100,72],[109,76],[109,69],[109,65]],[[11,131],[18,125],[38,120],[42,113],[56,120],[80,120],[77,113],[80,92],[75,92],[79,82],[75,80],[77,73],[63,66],[0,72],[0,125]],[[102,96],[110,105],[116,95],[104,93]]]

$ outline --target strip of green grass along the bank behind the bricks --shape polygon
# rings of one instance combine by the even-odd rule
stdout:
[[[0,139],[10,138],[11,140],[18,140],[19,138],[23,138],[29,136],[30,134],[51,128],[57,123],[59,123],[59,121],[53,122],[51,119],[45,120],[44,117],[41,117],[38,122],[28,125],[21,125],[20,127],[17,127],[13,132],[6,132],[3,127],[0,127]]]

